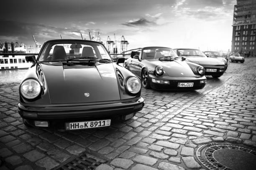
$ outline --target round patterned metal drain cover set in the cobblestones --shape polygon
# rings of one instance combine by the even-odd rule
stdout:
[[[200,146],[196,155],[210,170],[252,170],[256,167],[256,150],[244,146],[209,143]]]

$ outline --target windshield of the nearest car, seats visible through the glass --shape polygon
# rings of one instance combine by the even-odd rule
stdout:
[[[98,58],[111,60],[105,47],[97,42],[59,41],[48,42],[41,55],[40,62],[67,61],[70,59]]]

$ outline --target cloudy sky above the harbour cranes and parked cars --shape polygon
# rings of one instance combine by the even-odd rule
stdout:
[[[33,45],[47,40],[89,40],[100,32],[106,43],[121,36],[128,50],[146,46],[231,49],[236,0],[5,0],[0,41]],[[118,51],[119,52],[119,51]]]

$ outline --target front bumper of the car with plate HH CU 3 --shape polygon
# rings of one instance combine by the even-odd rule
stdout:
[[[156,80],[168,80],[169,84],[160,84],[152,82],[152,78]],[[205,80],[205,83],[200,83]],[[198,90],[205,87],[206,77],[157,77],[149,75],[150,87],[156,90]],[[178,87],[179,82],[193,82],[193,87]]]

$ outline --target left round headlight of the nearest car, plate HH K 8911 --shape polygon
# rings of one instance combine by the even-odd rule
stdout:
[[[36,98],[41,92],[41,85],[34,79],[25,80],[20,86],[21,95],[27,99]]]

